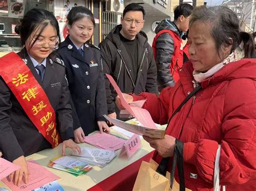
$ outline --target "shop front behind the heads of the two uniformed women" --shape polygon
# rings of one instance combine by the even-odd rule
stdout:
[[[62,40],[66,37],[66,16],[74,6],[85,6],[95,15],[96,29],[93,41],[99,44],[101,35],[99,20],[102,1],[93,0],[0,0],[0,56],[10,52],[19,51],[21,44],[15,26],[26,12],[33,8],[46,9],[52,12],[59,23]]]

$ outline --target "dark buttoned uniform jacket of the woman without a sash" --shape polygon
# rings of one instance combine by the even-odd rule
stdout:
[[[58,56],[66,65],[66,76],[73,101],[74,129],[82,126],[85,135],[98,130],[97,121],[107,114],[105,82],[99,48],[84,45],[82,56],[69,36],[60,44]]]

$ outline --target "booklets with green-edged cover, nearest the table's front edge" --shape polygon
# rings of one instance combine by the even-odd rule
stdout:
[[[59,156],[51,161],[48,164],[48,167],[59,169],[60,171],[68,172],[74,176],[79,176],[89,172],[92,167],[86,162],[71,158],[69,156]]]

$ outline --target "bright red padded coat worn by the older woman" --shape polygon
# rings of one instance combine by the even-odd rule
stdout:
[[[144,108],[153,121],[166,124],[172,112],[193,91],[192,63],[179,70],[180,80],[159,97],[142,93]],[[256,189],[256,59],[228,63],[201,82],[203,89],[173,117],[167,135],[184,142],[186,187],[213,190],[214,161],[218,144],[220,184],[227,190]],[[154,160],[160,162],[156,152]],[[197,179],[191,177],[197,174]],[[175,175],[178,179],[177,173]]]

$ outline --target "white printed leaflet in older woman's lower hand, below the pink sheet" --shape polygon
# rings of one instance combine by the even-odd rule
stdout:
[[[118,126],[119,128],[123,128],[132,133],[136,133],[137,135],[145,135],[147,137],[156,138],[156,139],[163,139],[165,136],[164,130],[146,128],[145,126],[134,125],[134,124],[120,121],[118,119],[113,119],[113,118],[107,117],[106,115],[103,115],[103,116],[108,121],[112,122],[114,125]]]

